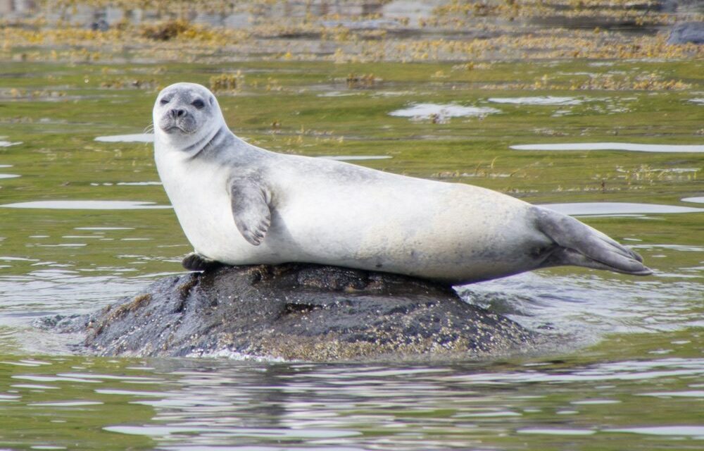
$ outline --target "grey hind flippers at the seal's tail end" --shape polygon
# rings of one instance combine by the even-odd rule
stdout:
[[[598,230],[557,211],[539,206],[534,208],[539,230],[557,245],[541,267],[575,265],[608,269],[634,276],[648,276],[653,273],[643,265],[639,254]]]

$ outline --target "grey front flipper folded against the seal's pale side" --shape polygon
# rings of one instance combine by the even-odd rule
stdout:
[[[271,223],[269,191],[251,178],[230,180],[230,203],[237,230],[251,245],[264,240]]]

